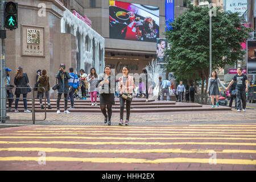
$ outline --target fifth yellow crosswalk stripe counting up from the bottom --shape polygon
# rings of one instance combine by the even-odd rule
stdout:
[[[15,133],[120,133],[119,131],[15,131]],[[122,131],[122,133],[155,133],[155,134],[168,134],[168,133],[182,133],[182,134],[256,134],[254,132],[193,132],[193,131]]]

